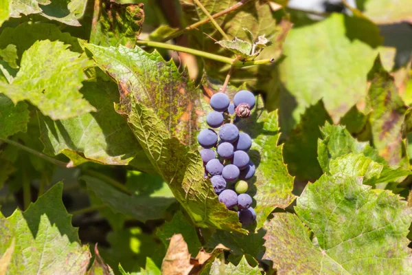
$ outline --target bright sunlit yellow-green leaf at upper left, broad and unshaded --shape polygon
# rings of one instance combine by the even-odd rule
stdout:
[[[78,92],[89,60],[67,47],[59,41],[34,43],[23,54],[21,69],[12,84],[0,83],[0,92],[14,103],[29,100],[54,120],[95,111]]]

